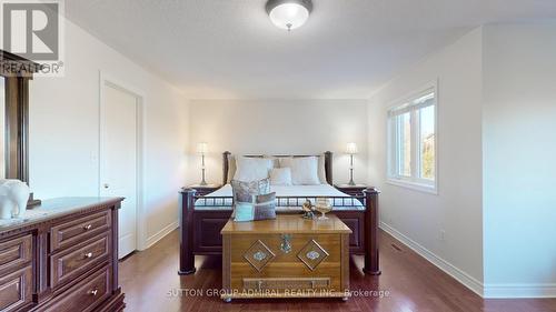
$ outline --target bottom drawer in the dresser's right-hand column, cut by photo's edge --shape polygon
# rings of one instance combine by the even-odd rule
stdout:
[[[86,278],[77,285],[61,293],[56,303],[46,311],[56,312],[87,312],[95,309],[105,299],[110,296],[110,266],[105,266],[100,271]]]

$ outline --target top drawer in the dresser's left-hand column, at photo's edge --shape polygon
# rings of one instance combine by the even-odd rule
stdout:
[[[10,271],[31,261],[32,235],[0,243],[0,272]]]

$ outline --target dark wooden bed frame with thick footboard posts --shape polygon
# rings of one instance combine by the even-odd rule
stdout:
[[[224,152],[222,182],[228,182],[230,152]],[[262,155],[249,155],[262,157]],[[289,157],[289,155],[276,155]],[[304,155],[292,155],[304,157]],[[332,183],[332,153],[325,153],[325,175],[330,185]],[[349,236],[349,249],[351,254],[364,254],[364,272],[380,274],[378,263],[378,194],[376,188],[368,188],[364,197],[351,197],[365,205],[365,210],[337,210],[337,215],[353,233]],[[180,275],[195,273],[195,255],[222,254],[222,239],[220,230],[231,217],[231,208],[228,209],[202,209],[196,210],[195,202],[202,199],[196,194],[195,189],[182,189],[179,194],[179,239],[180,239]],[[205,197],[208,198],[208,197]]]

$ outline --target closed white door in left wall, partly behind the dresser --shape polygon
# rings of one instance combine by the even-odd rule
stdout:
[[[100,195],[126,198],[118,213],[118,258],[137,248],[138,98],[102,82],[100,105]]]

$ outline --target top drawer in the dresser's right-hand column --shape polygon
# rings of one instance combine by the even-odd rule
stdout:
[[[50,234],[50,251],[75,245],[110,227],[110,212],[86,215],[77,220],[52,227]]]

